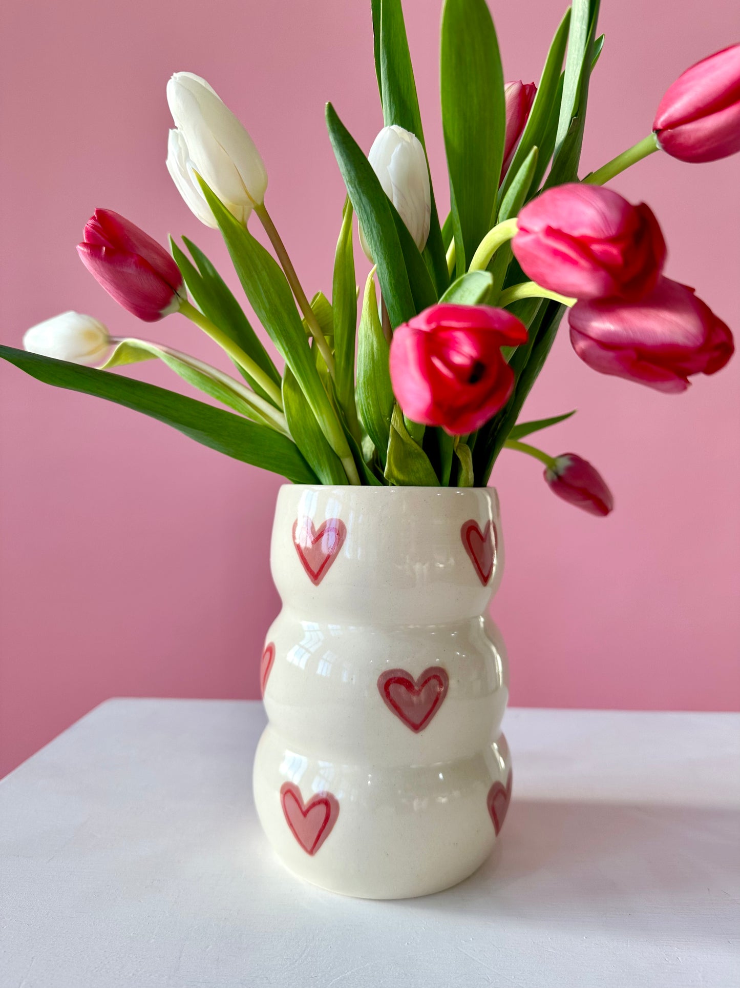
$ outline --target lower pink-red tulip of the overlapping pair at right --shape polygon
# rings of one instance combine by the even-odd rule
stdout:
[[[577,302],[569,319],[570,342],[590,368],[658,391],[685,391],[690,374],[719,371],[735,349],[732,333],[694,288],[667,278],[631,305]]]

